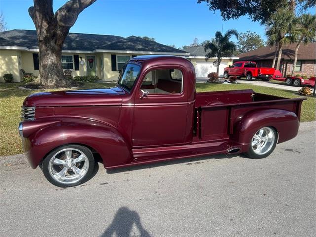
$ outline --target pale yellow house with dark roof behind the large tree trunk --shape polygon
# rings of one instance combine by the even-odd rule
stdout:
[[[72,76],[97,75],[100,80],[118,79],[119,70],[131,57],[148,54],[189,56],[175,49],[136,36],[69,33],[62,50],[62,67]],[[0,82],[12,73],[15,82],[24,73],[39,74],[39,47],[36,31],[0,32]]]

